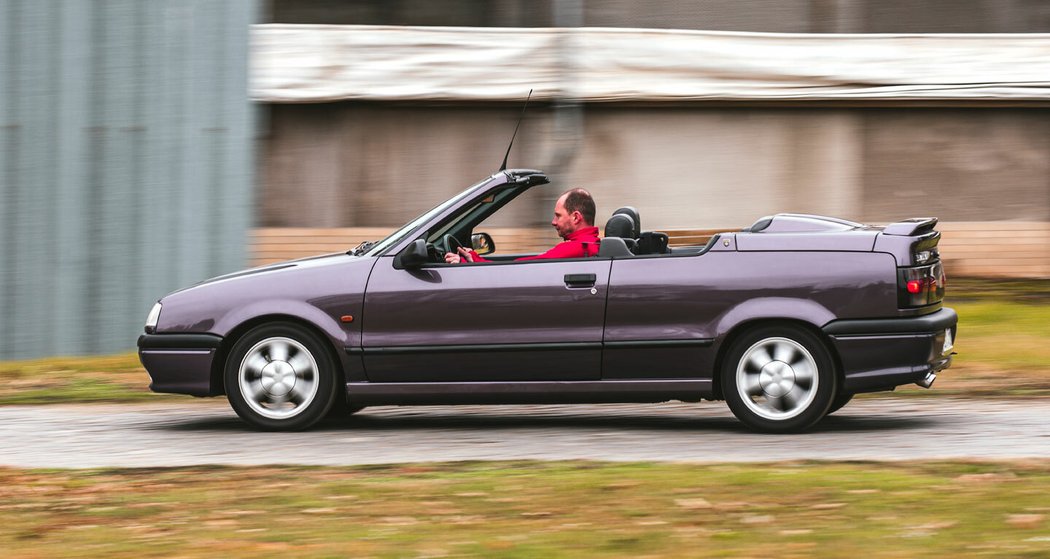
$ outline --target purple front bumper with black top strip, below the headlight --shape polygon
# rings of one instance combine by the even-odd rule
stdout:
[[[214,396],[212,365],[223,337],[212,334],[143,334],[139,360],[146,368],[153,392]]]

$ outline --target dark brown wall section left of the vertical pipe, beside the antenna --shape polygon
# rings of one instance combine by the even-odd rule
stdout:
[[[268,109],[258,205],[265,227],[404,223],[495,172],[521,112],[370,103]],[[539,159],[534,146],[546,132],[531,128],[522,127],[512,165]]]

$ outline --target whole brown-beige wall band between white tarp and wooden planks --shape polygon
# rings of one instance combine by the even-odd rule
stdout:
[[[495,171],[517,107],[273,105],[260,225],[387,227]],[[741,227],[778,211],[866,222],[1050,221],[1050,110],[532,107],[510,166],[590,189],[598,221]],[[542,224],[546,203],[500,225]]]

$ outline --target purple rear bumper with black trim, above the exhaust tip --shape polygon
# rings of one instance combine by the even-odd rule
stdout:
[[[840,357],[845,392],[877,392],[927,382],[951,366],[959,315],[944,308],[907,318],[835,320],[823,331]],[[945,339],[950,332],[951,344]]]

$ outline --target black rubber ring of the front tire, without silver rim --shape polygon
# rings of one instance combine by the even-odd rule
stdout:
[[[317,393],[313,400],[298,414],[284,419],[266,417],[254,411],[240,393],[238,381],[240,363],[248,351],[259,341],[272,337],[287,337],[298,341],[317,364]],[[291,323],[266,324],[248,331],[231,348],[224,371],[226,394],[233,411],[253,427],[265,431],[299,431],[322,419],[333,407],[337,395],[336,369],[331,352],[310,330]]]

